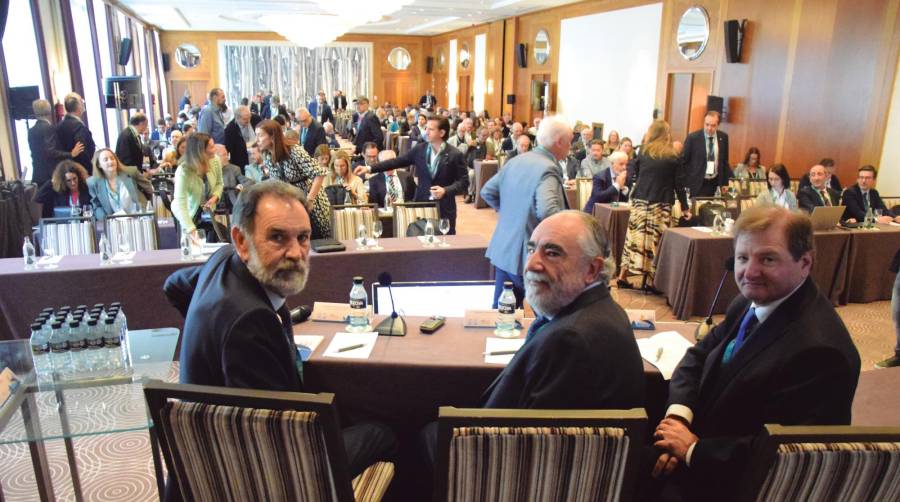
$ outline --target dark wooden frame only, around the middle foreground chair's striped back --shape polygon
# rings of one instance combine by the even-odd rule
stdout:
[[[631,500],[647,431],[643,408],[630,410],[517,410],[441,406],[434,471],[434,501],[446,502],[450,441],[457,427],[620,427],[629,438],[620,500]]]

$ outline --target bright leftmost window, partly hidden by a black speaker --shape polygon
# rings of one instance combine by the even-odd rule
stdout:
[[[6,78],[10,88],[37,86],[38,95],[46,99],[41,78],[41,58],[38,56],[31,2],[19,0],[9,3],[6,31],[3,33],[3,55],[6,59]],[[28,148],[28,127],[33,120],[11,120],[19,155],[19,175],[31,179],[31,149]]]

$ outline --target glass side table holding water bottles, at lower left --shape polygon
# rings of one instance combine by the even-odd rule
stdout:
[[[56,500],[45,441],[62,439],[75,499],[83,500],[74,438],[148,430],[160,497],[164,493],[162,459],[144,400],[143,382],[177,381],[172,361],[177,329],[129,332],[134,374],[85,381],[37,382],[28,340],[0,342],[0,367],[8,366],[19,387],[0,405],[0,445],[28,443],[38,495]],[[0,487],[0,500],[3,499]]]

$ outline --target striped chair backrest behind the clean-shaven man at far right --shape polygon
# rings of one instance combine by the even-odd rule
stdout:
[[[900,427],[766,425],[742,500],[900,500]]]

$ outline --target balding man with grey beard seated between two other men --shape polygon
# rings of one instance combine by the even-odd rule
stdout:
[[[525,298],[538,314],[525,344],[482,396],[485,408],[628,409],[644,405],[644,366],[597,220],[562,211],[528,241]]]

